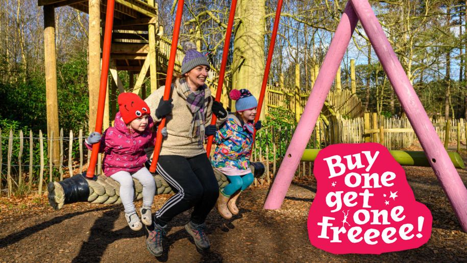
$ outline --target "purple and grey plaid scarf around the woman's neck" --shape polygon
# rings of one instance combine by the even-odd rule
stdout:
[[[203,144],[204,139],[204,129],[205,129],[205,112],[208,106],[209,100],[205,100],[205,88],[206,85],[199,87],[196,91],[191,91],[190,87],[185,79],[180,79],[180,88],[177,89],[177,92],[186,100],[188,108],[193,113],[193,119],[191,119],[191,127],[188,132],[188,136],[193,138],[193,136],[198,137],[198,144]]]

